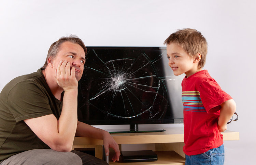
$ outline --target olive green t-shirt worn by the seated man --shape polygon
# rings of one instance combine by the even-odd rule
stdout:
[[[49,114],[59,119],[61,109],[41,69],[10,81],[0,93],[0,162],[23,151],[49,148],[23,120]]]

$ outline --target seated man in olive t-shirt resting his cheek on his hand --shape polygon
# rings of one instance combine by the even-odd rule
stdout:
[[[71,151],[74,136],[103,139],[106,155],[111,147],[115,151],[112,160],[118,161],[120,151],[112,136],[77,120],[77,86],[86,52],[77,36],[62,37],[51,45],[42,68],[13,79],[3,88],[0,165],[105,164]]]

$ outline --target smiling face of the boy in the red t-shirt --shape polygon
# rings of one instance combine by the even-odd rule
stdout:
[[[187,77],[200,71],[198,60],[191,58],[180,46],[175,43],[167,44],[167,58],[169,66],[175,76],[185,73]],[[200,59],[199,59],[200,60]]]

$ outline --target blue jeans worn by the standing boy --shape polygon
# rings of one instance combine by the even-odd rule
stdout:
[[[204,153],[198,155],[185,155],[185,165],[223,165],[225,158],[224,146],[221,145],[218,148],[210,149]]]

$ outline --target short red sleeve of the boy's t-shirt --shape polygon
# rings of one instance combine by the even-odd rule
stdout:
[[[214,79],[202,82],[199,88],[200,98],[207,113],[213,113],[221,109],[221,104],[232,99]]]

